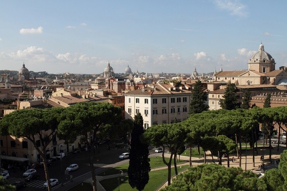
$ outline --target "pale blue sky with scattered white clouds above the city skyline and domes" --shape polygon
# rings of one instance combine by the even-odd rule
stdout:
[[[0,70],[246,70],[263,43],[287,66],[285,0],[1,0]]]

